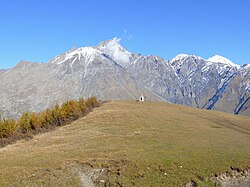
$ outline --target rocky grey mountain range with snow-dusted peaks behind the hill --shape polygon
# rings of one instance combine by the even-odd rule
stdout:
[[[119,39],[69,50],[48,63],[0,70],[0,112],[18,117],[79,97],[166,101],[250,116],[250,64],[180,54],[172,60],[127,51]]]

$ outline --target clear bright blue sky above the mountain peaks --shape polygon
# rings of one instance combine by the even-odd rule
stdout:
[[[143,55],[250,63],[249,10],[249,0],[0,0],[0,68],[114,37]]]

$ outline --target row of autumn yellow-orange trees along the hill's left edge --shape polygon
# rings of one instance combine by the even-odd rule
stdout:
[[[55,127],[71,123],[87,115],[101,102],[96,97],[87,100],[69,100],[61,105],[56,104],[39,113],[24,112],[17,120],[4,119],[0,116],[0,147],[17,139],[29,138],[39,132],[46,132]]]

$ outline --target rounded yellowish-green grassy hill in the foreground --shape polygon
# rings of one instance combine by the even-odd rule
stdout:
[[[180,186],[250,167],[250,118],[166,103],[109,102],[0,149],[0,186]]]

